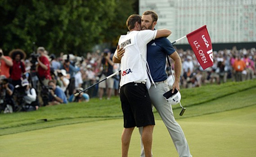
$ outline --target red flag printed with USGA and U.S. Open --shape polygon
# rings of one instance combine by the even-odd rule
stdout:
[[[203,70],[213,66],[213,48],[206,25],[187,35],[189,45]]]

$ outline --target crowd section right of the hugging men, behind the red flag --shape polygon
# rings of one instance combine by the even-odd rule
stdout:
[[[192,50],[177,50],[182,60],[180,84],[183,88],[200,87],[206,83],[221,84],[245,81],[256,77],[256,49],[220,50],[213,52],[214,65],[203,70]],[[170,73],[169,69],[167,72]],[[169,77],[169,80],[172,80]],[[171,82],[171,81],[170,81]]]

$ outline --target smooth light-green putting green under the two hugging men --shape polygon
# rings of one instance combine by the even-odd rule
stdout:
[[[256,105],[177,122],[193,157],[255,157]],[[122,120],[116,119],[4,135],[0,136],[0,157],[120,157],[122,129]],[[160,120],[153,138],[154,157],[178,157]],[[129,157],[139,157],[139,144],[135,129]]]

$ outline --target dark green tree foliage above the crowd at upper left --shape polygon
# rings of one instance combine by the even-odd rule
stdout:
[[[135,1],[1,0],[0,47],[83,54],[126,32],[124,21],[134,13]]]

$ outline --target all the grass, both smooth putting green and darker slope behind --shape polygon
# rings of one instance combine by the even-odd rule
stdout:
[[[256,153],[256,80],[182,89],[173,106],[194,157],[253,157]],[[177,157],[156,111],[153,152]],[[40,119],[47,119],[44,122]],[[0,114],[0,157],[120,157],[122,112],[118,97]],[[135,130],[129,156],[139,156]]]

